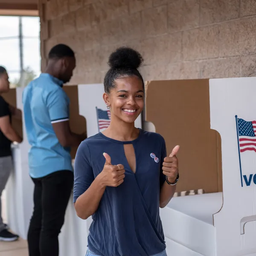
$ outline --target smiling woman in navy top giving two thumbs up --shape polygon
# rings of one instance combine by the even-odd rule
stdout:
[[[159,207],[175,192],[178,148],[166,157],[160,134],[134,126],[144,105],[142,61],[131,48],[110,55],[103,99],[111,123],[84,140],[76,154],[76,213],[93,217],[87,256],[166,256]]]

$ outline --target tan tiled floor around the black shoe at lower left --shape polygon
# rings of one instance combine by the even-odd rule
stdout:
[[[2,195],[2,209],[3,219],[6,219],[5,215],[5,192]],[[14,242],[1,242],[0,241],[0,256],[28,256],[27,243],[23,239],[18,239]]]

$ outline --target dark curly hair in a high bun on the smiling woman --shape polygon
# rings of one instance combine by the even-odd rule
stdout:
[[[110,69],[104,78],[105,93],[110,93],[116,84],[115,80],[125,76],[137,76],[143,82],[143,78],[138,70],[143,62],[143,57],[134,49],[120,47],[112,52],[108,59]]]

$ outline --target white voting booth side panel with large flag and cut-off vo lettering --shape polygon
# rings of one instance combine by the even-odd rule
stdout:
[[[256,255],[255,85],[255,77],[209,81],[211,128],[222,147],[224,202],[214,215],[218,256]]]

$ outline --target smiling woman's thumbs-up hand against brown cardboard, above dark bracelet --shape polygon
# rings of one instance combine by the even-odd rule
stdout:
[[[168,181],[170,183],[174,183],[176,180],[176,177],[179,172],[178,167],[178,159],[176,157],[177,152],[179,151],[180,146],[175,146],[173,148],[172,153],[169,155],[169,157],[165,157],[163,160],[163,174],[168,177]]]

